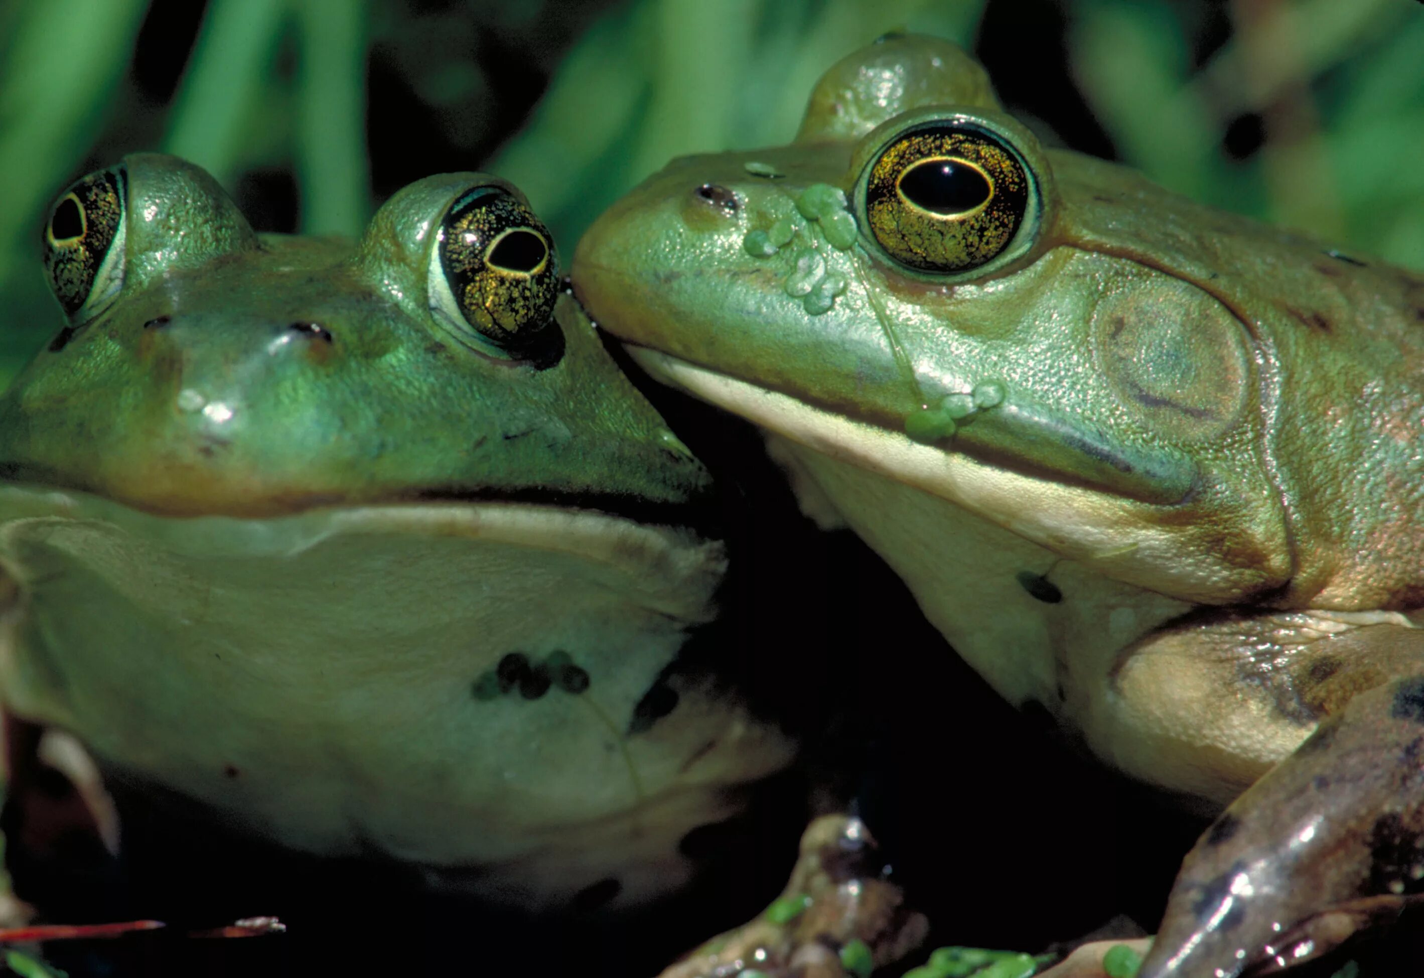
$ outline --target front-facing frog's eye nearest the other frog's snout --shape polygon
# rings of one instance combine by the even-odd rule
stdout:
[[[484,353],[548,363],[558,259],[548,229],[503,186],[477,186],[446,212],[430,259],[430,306]]]

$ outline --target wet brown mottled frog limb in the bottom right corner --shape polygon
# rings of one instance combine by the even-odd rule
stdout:
[[[1366,690],[1198,840],[1139,978],[1287,968],[1424,900],[1424,675]]]

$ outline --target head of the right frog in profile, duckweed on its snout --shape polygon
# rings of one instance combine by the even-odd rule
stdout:
[[[1200,245],[1223,221],[1047,151],[958,47],[889,37],[830,68],[790,145],[637,188],[574,283],[664,382],[1059,557],[1226,601],[1290,558],[1269,367]]]

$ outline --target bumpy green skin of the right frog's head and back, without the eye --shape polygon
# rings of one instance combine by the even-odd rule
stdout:
[[[1032,423],[961,426],[953,447],[1121,493],[1092,521],[1155,528],[1178,559],[1142,551],[1115,574],[1165,594],[1420,604],[1424,538],[1401,530],[1424,505],[1411,436],[1424,421],[1424,279],[1045,151],[998,110],[977,65],[944,46],[927,67],[923,44],[886,43],[833,68],[793,144],[676,159],[615,204],[574,259],[594,317],[638,346],[890,431],[1001,383]],[[854,209],[867,157],[934,105],[997,121],[1035,171],[1038,231],[1014,261],[916,275],[864,228],[843,251],[797,221],[816,185],[840,188]],[[699,198],[706,184],[736,209]],[[769,251],[759,232],[787,221],[796,236]],[[850,283],[822,315],[787,292],[809,251]]]

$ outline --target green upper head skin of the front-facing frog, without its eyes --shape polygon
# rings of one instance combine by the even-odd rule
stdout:
[[[122,292],[0,399],[6,478],[246,515],[525,491],[678,504],[708,488],[570,303],[545,370],[484,356],[431,315],[434,225],[471,182],[498,181],[420,181],[353,249],[259,239],[181,161],[127,169]]]

